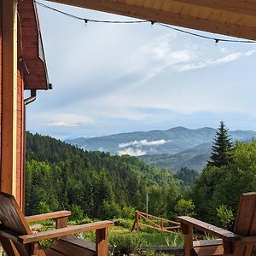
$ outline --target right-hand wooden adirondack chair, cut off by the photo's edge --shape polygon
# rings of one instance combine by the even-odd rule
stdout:
[[[241,195],[233,232],[220,229],[195,218],[178,217],[184,235],[185,256],[255,256],[256,255],[256,193]],[[193,241],[193,228],[220,239]]]

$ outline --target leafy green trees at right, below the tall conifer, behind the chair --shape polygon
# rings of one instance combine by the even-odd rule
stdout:
[[[242,193],[256,191],[256,142],[236,143],[232,162],[208,165],[195,181],[191,199],[197,217],[212,224],[224,224],[236,216]],[[230,223],[231,224],[231,223]]]

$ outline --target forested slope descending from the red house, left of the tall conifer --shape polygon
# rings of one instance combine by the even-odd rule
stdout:
[[[26,133],[26,214],[72,209],[78,217],[129,217],[145,209],[170,216],[177,185],[171,172],[128,155],[84,151]]]

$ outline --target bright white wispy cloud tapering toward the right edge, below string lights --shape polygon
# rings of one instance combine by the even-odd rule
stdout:
[[[121,73],[125,71],[130,76],[139,74],[141,79],[137,80],[138,86],[166,72],[171,75],[177,72],[218,66],[254,53],[254,49],[234,52],[234,49],[221,47],[215,49],[215,53],[212,54],[204,44],[195,44],[190,40],[181,42],[176,34],[165,33],[125,56],[119,68],[123,70]]]

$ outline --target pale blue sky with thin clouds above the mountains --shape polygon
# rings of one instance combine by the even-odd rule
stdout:
[[[133,20],[40,2],[86,19]],[[65,139],[220,120],[256,131],[256,44],[215,44],[148,23],[85,26],[39,6],[38,14],[53,90],[26,107],[28,131]]]

